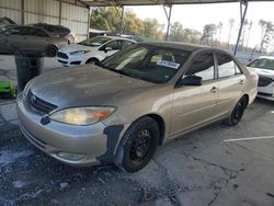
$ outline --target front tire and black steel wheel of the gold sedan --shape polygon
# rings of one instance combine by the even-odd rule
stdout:
[[[159,138],[159,126],[153,118],[138,119],[125,133],[114,163],[127,172],[142,169],[153,157]]]

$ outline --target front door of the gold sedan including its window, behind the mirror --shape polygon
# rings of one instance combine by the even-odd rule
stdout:
[[[218,80],[213,53],[197,55],[184,77],[202,78],[202,85],[183,85],[174,89],[171,135],[180,134],[214,118]]]

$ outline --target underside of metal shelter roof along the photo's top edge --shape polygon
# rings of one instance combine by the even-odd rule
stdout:
[[[90,7],[107,7],[107,5],[158,5],[158,4],[198,4],[198,3],[226,3],[239,2],[239,0],[80,0],[82,3]],[[240,0],[262,1],[262,0]],[[271,0],[264,0],[271,1]],[[273,1],[273,0],[272,0]]]

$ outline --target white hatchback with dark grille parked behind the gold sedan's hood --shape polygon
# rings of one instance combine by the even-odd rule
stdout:
[[[64,66],[95,64],[134,43],[130,39],[118,36],[89,38],[58,50],[58,61]]]

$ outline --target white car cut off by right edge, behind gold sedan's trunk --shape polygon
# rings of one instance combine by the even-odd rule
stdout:
[[[258,96],[274,101],[274,57],[262,56],[248,64],[259,75]]]

